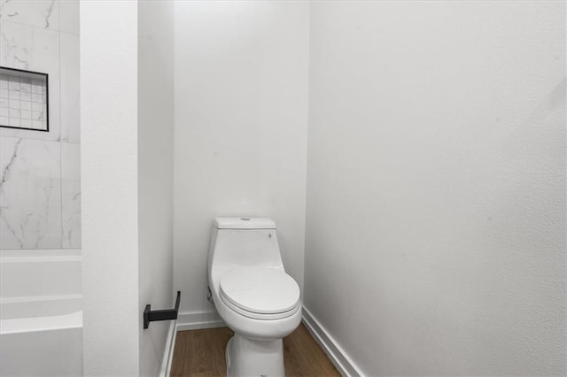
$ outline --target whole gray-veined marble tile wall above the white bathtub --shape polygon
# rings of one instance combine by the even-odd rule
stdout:
[[[0,65],[50,75],[50,132],[0,127],[0,249],[80,248],[79,0],[0,0]]]

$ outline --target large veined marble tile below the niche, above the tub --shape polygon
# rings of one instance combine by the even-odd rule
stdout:
[[[61,248],[59,142],[0,137],[0,249]]]

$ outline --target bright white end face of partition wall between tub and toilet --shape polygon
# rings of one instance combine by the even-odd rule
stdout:
[[[84,375],[139,374],[137,2],[81,4]]]

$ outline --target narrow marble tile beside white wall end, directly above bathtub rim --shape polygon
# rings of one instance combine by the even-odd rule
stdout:
[[[81,248],[81,144],[61,142],[63,249]]]

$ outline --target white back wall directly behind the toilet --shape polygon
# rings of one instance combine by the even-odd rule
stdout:
[[[303,286],[308,4],[175,4],[175,284],[182,312],[212,312],[215,216],[276,221]]]

